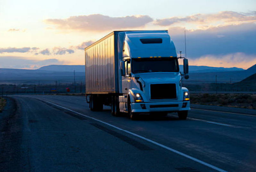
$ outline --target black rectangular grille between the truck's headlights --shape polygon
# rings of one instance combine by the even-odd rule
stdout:
[[[152,100],[175,99],[176,84],[151,84],[150,94]]]

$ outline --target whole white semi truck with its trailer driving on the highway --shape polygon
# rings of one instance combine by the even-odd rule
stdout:
[[[86,96],[91,111],[111,106],[113,116],[128,113],[165,116],[190,110],[188,60],[179,70],[177,52],[167,30],[113,31],[85,48]],[[87,98],[87,97],[86,97]]]

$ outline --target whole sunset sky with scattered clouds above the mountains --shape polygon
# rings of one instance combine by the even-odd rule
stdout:
[[[255,0],[0,0],[0,68],[83,65],[114,30],[168,30],[189,65],[256,64]]]

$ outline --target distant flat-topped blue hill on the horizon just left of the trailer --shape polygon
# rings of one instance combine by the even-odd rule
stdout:
[[[40,67],[37,70],[59,71],[59,72],[85,72],[84,65],[49,65]]]

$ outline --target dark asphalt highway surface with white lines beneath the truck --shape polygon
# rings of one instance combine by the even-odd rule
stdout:
[[[13,96],[0,113],[0,171],[256,171],[256,116],[187,120],[91,112],[84,97]],[[216,109],[218,110],[218,109]]]

